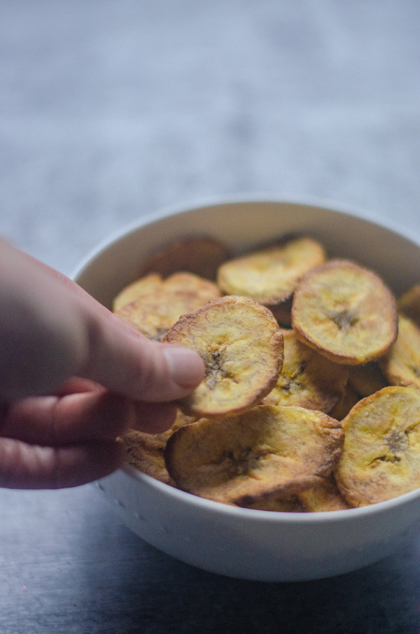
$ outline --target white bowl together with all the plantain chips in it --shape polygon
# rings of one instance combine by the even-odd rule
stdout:
[[[129,430],[93,486],[143,540],[260,581],[370,565],[420,530],[420,239],[324,202],[141,218],[80,286],[206,374],[172,428]]]

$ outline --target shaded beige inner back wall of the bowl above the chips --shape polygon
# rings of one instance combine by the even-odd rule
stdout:
[[[113,297],[137,279],[145,258],[172,239],[210,235],[240,253],[293,233],[318,239],[332,258],[374,269],[396,295],[420,279],[420,250],[413,241],[348,213],[287,202],[229,202],[148,218],[88,256],[75,279],[111,308]]]

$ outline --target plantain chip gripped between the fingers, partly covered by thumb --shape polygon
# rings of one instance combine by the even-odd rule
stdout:
[[[191,416],[244,411],[274,387],[283,337],[269,310],[248,297],[221,297],[184,315],[163,339],[196,350],[204,380],[179,407]]]

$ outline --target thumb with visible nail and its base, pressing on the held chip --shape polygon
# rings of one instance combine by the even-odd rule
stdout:
[[[3,243],[0,395],[51,393],[83,376],[151,402],[190,393],[204,364],[195,351],[150,341],[76,283]]]

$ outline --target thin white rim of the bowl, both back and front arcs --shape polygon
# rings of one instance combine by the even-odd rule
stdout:
[[[76,280],[80,274],[90,265],[90,263],[97,258],[106,248],[109,248],[112,244],[116,243],[120,239],[123,239],[128,234],[132,233],[135,230],[141,229],[141,227],[145,227],[146,225],[151,225],[159,220],[163,220],[165,218],[169,218],[171,216],[176,216],[181,213],[186,213],[188,211],[198,211],[201,208],[209,208],[223,205],[235,205],[235,204],[282,204],[282,205],[296,205],[296,206],[310,206],[317,209],[325,209],[327,211],[332,211],[335,213],[342,214],[343,216],[353,216],[354,218],[360,218],[361,220],[366,220],[373,225],[378,225],[379,227],[384,227],[386,230],[389,230],[400,237],[407,239],[412,244],[418,246],[420,248],[420,234],[412,230],[411,228],[400,225],[400,223],[395,223],[390,218],[384,218],[379,215],[379,213],[374,213],[371,211],[366,211],[363,208],[354,205],[346,205],[341,202],[337,202],[333,199],[321,199],[314,196],[281,196],[281,195],[264,195],[264,194],[252,194],[252,195],[220,195],[218,197],[209,197],[202,198],[198,200],[193,200],[191,202],[176,204],[173,206],[167,206],[159,211],[154,211],[152,213],[147,213],[144,216],[140,216],[136,220],[133,220],[130,223],[123,225],[118,230],[109,234],[108,237],[103,239],[97,244],[94,248],[92,248],[85,258],[79,262],[76,269],[73,270],[71,274],[71,279]],[[242,507],[233,507],[230,505],[225,505],[222,502],[215,502],[214,500],[207,500],[205,498],[200,498],[193,493],[188,493],[186,491],[182,491],[181,489],[175,488],[168,484],[165,484],[155,478],[148,476],[147,474],[137,470],[132,465],[123,465],[120,467],[120,472],[124,472],[130,478],[140,481],[144,486],[148,488],[153,488],[161,494],[170,498],[174,498],[175,500],[179,500],[183,502],[183,504],[198,507],[203,509],[203,511],[214,512],[218,514],[224,514],[226,516],[240,517],[242,519],[251,520],[265,520],[269,522],[277,523],[281,521],[282,523],[289,524],[298,524],[298,523],[316,523],[316,524],[324,524],[324,523],[334,523],[336,521],[342,521],[346,518],[354,518],[360,516],[369,516],[374,515],[386,510],[394,509],[400,505],[404,505],[405,502],[412,502],[417,498],[420,498],[420,488],[415,489],[414,491],[409,491],[408,493],[403,493],[402,495],[398,495],[395,498],[391,498],[390,500],[384,500],[383,502],[375,502],[371,505],[365,505],[363,507],[355,507],[350,509],[342,509],[339,511],[320,511],[320,512],[281,512],[281,511],[261,511],[257,509],[246,509]],[[112,474],[111,474],[112,476]]]

